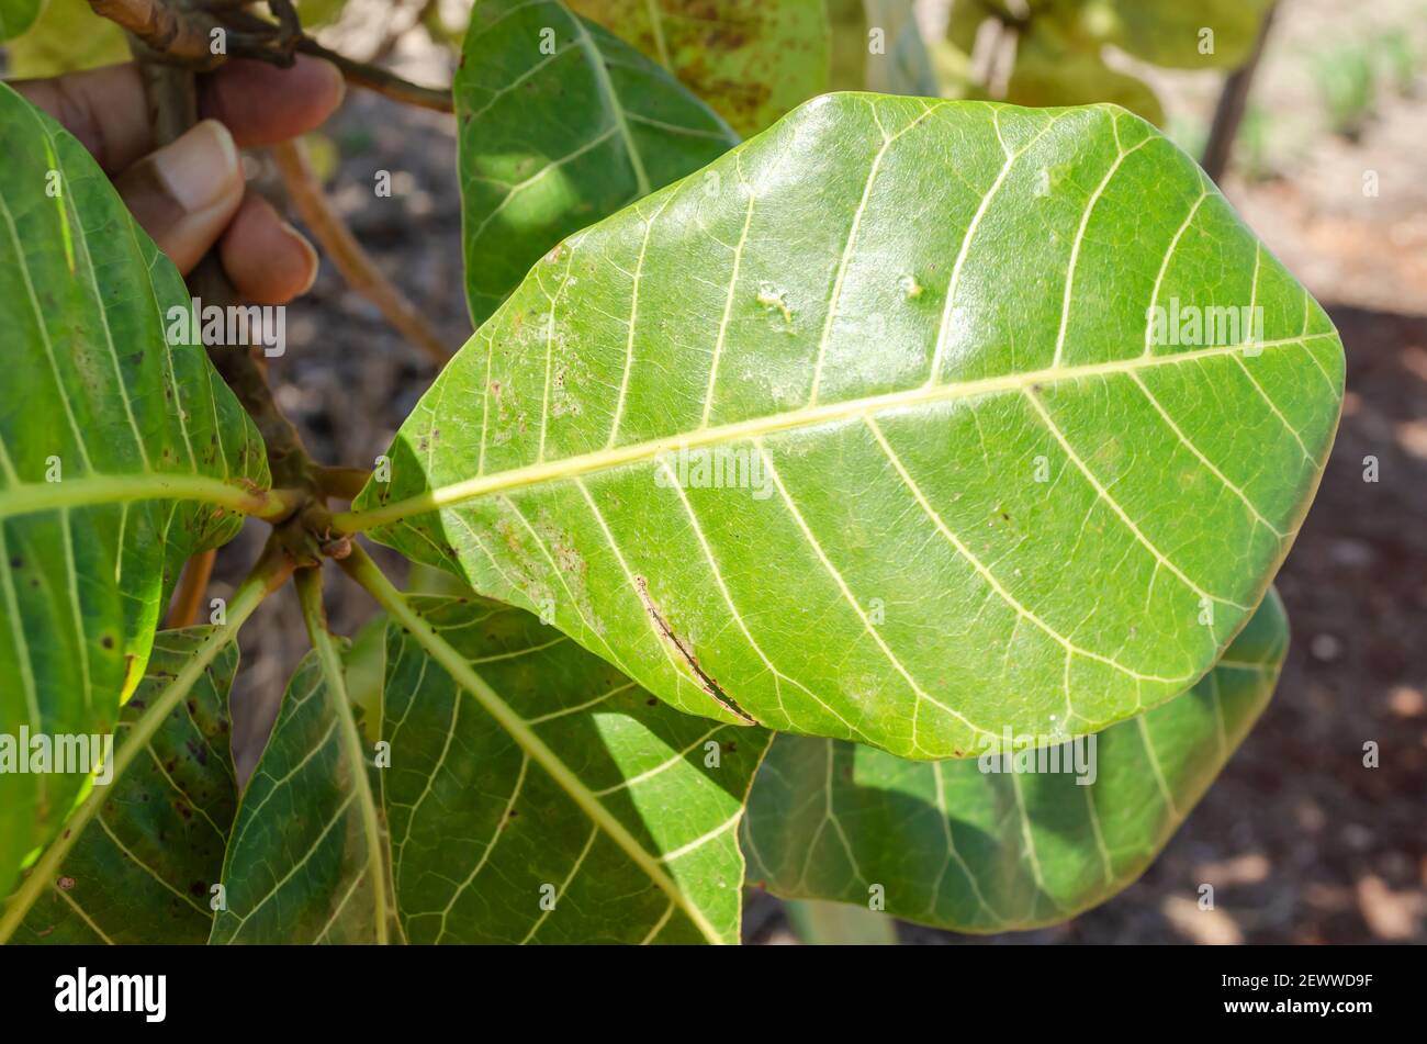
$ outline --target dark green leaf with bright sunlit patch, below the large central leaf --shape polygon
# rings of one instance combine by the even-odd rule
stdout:
[[[407,937],[736,943],[736,826],[772,736],[672,712],[518,609],[412,606],[517,725],[392,622],[382,794]]]

